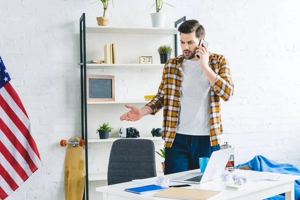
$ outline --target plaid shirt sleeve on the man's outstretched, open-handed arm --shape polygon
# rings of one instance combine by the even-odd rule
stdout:
[[[160,85],[158,87],[158,91],[157,91],[156,95],[150,100],[150,102],[148,102],[146,104],[146,105],[148,105],[152,108],[152,113],[150,113],[152,115],[155,115],[163,107],[164,70],[165,70],[165,67],[163,68],[161,82],[160,82]]]

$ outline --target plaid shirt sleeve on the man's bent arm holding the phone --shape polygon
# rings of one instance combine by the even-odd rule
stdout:
[[[220,98],[227,101],[233,95],[234,84],[231,78],[228,60],[222,56],[219,63],[220,68],[216,75],[214,84],[211,85],[211,87]]]

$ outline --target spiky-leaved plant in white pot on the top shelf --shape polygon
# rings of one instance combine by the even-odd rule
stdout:
[[[174,7],[173,5],[170,5],[168,3],[163,2],[163,0],[155,0],[155,3],[152,4],[151,8],[156,5],[156,12],[153,12],[150,14],[151,21],[152,21],[152,27],[164,27],[165,26],[165,13],[160,12],[162,5],[167,4]]]

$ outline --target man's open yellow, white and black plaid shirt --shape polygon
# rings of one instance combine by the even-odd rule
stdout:
[[[181,67],[183,55],[169,59],[163,68],[161,83],[156,95],[146,105],[153,110],[155,115],[163,107],[162,138],[164,147],[171,147],[178,122],[180,91],[181,91]],[[214,84],[210,86],[210,145],[220,143],[220,134],[223,133],[220,98],[229,100],[233,95],[233,81],[227,59],[220,54],[209,52],[209,67],[217,74]]]

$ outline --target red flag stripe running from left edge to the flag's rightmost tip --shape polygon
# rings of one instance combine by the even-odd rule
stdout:
[[[36,156],[39,158],[38,150],[36,147],[36,144],[27,129],[27,127],[20,121],[20,119],[16,116],[14,111],[9,107],[7,102],[4,100],[4,98],[0,95],[0,106],[4,110],[4,112],[8,115],[8,117],[12,120],[12,122],[17,126],[17,128],[20,130],[20,132],[24,135],[24,137],[27,139],[31,149],[34,151]]]

